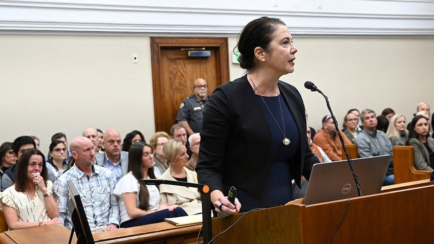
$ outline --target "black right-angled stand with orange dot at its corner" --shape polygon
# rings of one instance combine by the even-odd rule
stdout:
[[[146,185],[174,185],[174,186],[186,186],[186,187],[196,187],[202,193],[202,225],[204,232],[204,243],[209,243],[212,239],[212,223],[211,223],[211,195],[209,192],[208,185],[196,184],[183,181],[169,181],[169,180],[158,180],[158,179],[140,179]]]

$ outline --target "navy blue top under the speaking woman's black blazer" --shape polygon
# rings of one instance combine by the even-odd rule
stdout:
[[[283,120],[285,122],[285,136],[291,141],[288,146],[283,144],[284,135],[276,124],[276,121],[270,114],[267,106],[261,96],[257,96],[259,103],[262,106],[263,113],[267,119],[272,137],[271,162],[264,164],[264,167],[269,167],[268,175],[263,175],[261,179],[252,179],[252,181],[262,181],[265,185],[265,194],[253,195],[240,190],[237,190],[236,197],[240,201],[242,207],[241,212],[246,212],[254,208],[269,208],[274,206],[285,205],[287,202],[294,199],[292,192],[292,176],[290,171],[291,159],[295,156],[299,143],[298,129],[294,118],[289,110],[289,107],[281,97],[263,97],[265,103],[276,119],[283,131]],[[280,112],[280,105],[281,112]],[[258,125],[263,126],[263,125]],[[258,142],[261,143],[261,142]],[[255,153],[255,152],[251,152]],[[224,194],[229,190],[230,186],[224,185]]]

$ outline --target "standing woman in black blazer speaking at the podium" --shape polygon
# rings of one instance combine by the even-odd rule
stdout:
[[[284,205],[291,181],[309,179],[314,163],[305,107],[296,88],[279,81],[294,71],[297,48],[285,23],[261,17],[244,27],[238,51],[247,74],[215,89],[203,112],[196,171],[220,217]],[[232,205],[224,196],[237,188]],[[243,205],[243,207],[241,206]]]

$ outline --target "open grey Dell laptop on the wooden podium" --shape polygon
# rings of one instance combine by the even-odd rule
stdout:
[[[362,196],[379,193],[383,186],[390,155],[351,160]],[[303,204],[330,202],[358,196],[348,161],[314,164]]]

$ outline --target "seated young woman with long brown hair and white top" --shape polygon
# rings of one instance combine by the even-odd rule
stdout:
[[[164,221],[164,218],[185,216],[177,205],[160,202],[157,186],[146,185],[140,179],[156,179],[154,154],[149,145],[138,142],[129,148],[128,169],[116,184],[114,194],[119,197],[122,228],[148,225]],[[160,186],[161,187],[161,186]]]

